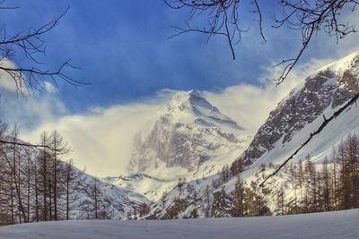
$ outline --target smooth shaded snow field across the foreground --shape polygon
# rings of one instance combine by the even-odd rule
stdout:
[[[1,226],[0,238],[359,238],[359,209],[261,218],[41,222]]]

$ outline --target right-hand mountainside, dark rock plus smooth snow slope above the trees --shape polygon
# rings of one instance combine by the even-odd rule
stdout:
[[[250,147],[241,155],[247,164],[283,161],[293,153],[324,118],[328,118],[359,92],[359,53],[322,67],[297,86],[268,116]],[[337,117],[299,152],[296,161],[310,154],[324,158],[349,132],[359,130],[357,107]]]

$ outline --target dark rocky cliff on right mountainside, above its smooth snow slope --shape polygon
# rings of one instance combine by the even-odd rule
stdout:
[[[358,73],[358,53],[313,73],[270,113],[241,159],[246,164],[252,163],[276,143],[284,145],[291,141],[295,132],[323,115],[328,107],[335,109],[345,103],[359,92]]]

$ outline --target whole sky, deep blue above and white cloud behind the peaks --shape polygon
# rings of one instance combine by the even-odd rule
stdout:
[[[241,13],[243,27],[250,31],[235,47],[235,61],[224,38],[213,38],[208,44],[205,36],[197,34],[168,40],[173,34],[171,26],[183,26],[188,12],[171,10],[162,0],[6,3],[21,7],[1,10],[0,21],[8,34],[51,21],[70,5],[57,27],[44,36],[47,55],[39,59],[48,69],[71,59],[81,69],[67,73],[91,85],[74,88],[58,81],[55,92],[37,92],[31,98],[18,98],[2,87],[0,119],[21,124],[25,140],[31,142],[38,141],[39,132],[57,129],[74,149],[75,164],[99,175],[125,172],[131,139],[163,103],[164,89],[200,90],[253,134],[277,102],[308,73],[359,47],[357,35],[339,45],[335,38],[319,35],[286,84],[274,89],[266,83],[279,74],[273,64],[292,58],[301,47],[298,32],[270,28],[276,0],[259,2],[266,4],[262,6],[266,45],[260,44],[253,16]],[[357,22],[355,17],[347,16],[348,21]],[[27,64],[20,54],[13,61]]]

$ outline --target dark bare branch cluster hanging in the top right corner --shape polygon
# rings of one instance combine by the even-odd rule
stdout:
[[[302,57],[303,52],[308,48],[314,33],[323,31],[329,37],[335,36],[337,43],[339,39],[346,35],[356,32],[355,25],[339,21],[340,13],[345,11],[355,12],[355,0],[280,0],[282,6],[282,16],[275,16],[276,24],[274,28],[282,28],[287,25],[291,30],[299,30],[302,33],[302,47],[293,59],[283,60],[275,66],[284,65],[283,72],[275,80],[279,85],[292,72],[293,67]]]

